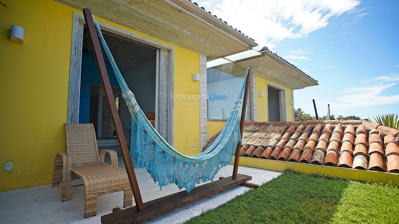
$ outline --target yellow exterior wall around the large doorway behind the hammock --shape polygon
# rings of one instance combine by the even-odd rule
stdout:
[[[12,171],[0,169],[0,191],[51,183],[55,154],[65,151],[73,12],[82,13],[52,0],[0,6],[0,166],[12,161]],[[24,43],[9,40],[11,25],[25,29]],[[191,80],[199,55],[174,47],[175,94],[199,89]],[[174,147],[188,155],[199,153],[197,101],[174,104]]]

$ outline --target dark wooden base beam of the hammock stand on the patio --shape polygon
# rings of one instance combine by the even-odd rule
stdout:
[[[136,206],[130,208],[119,209],[114,208],[113,212],[101,216],[103,224],[137,224],[144,220],[154,218],[160,214],[164,214],[180,206],[196,201],[215,193],[219,193],[237,185],[247,184],[252,179],[251,176],[237,174],[237,179],[232,176],[219,179],[204,185],[200,185],[192,189],[190,194],[186,191],[180,191],[172,195],[164,196],[144,203],[144,210],[138,211]],[[249,184],[249,183],[248,183]],[[254,184],[250,184],[253,186]],[[244,185],[245,186],[245,185]],[[248,186],[246,186],[248,187]]]

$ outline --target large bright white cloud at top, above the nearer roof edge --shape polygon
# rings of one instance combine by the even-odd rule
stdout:
[[[197,1],[205,10],[227,21],[259,43],[274,45],[286,38],[302,38],[324,28],[328,20],[356,10],[359,0],[216,0]],[[361,12],[359,12],[361,13]],[[358,14],[356,14],[358,16]]]

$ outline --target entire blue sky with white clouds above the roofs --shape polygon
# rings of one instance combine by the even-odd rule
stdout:
[[[294,63],[318,86],[294,90],[295,108],[319,116],[399,113],[399,1],[197,1]],[[240,16],[237,16],[240,15]]]

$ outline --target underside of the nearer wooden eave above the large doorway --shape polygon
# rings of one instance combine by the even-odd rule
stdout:
[[[171,0],[55,1],[79,10],[90,8],[95,16],[206,55],[207,58],[224,57],[257,45],[247,37],[243,38],[243,35],[240,37],[230,26],[230,30],[222,29],[220,20],[205,20],[203,15],[199,16],[199,13],[191,12]]]

